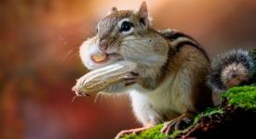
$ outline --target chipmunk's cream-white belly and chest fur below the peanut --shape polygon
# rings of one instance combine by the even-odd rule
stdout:
[[[161,123],[179,116],[188,107],[193,108],[189,99],[192,94],[190,84],[191,79],[182,69],[180,73],[168,76],[153,91],[135,84],[129,90],[134,114],[144,125]]]

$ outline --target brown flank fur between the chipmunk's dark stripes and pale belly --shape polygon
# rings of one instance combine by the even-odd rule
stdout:
[[[170,58],[168,62],[165,78],[168,78],[169,74],[177,74],[182,68],[188,69],[191,72],[187,76],[189,76],[194,83],[193,94],[191,96],[191,100],[194,103],[194,110],[201,110],[211,106],[211,91],[206,84],[207,75],[209,74],[208,58],[205,57],[200,50],[191,45],[184,45],[182,49],[176,53],[175,50],[173,51],[172,55],[174,54],[175,56],[170,56],[172,58]],[[161,78],[159,82],[163,82],[165,78]]]

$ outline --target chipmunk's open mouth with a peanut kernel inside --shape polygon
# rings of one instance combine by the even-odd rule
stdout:
[[[97,54],[92,54],[90,56],[90,59],[96,64],[104,64],[112,59],[116,59],[117,57],[120,57],[117,53],[111,53],[111,54],[97,53]]]

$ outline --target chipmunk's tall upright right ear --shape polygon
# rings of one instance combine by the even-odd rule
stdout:
[[[140,18],[140,21],[143,25],[147,26],[148,25],[148,8],[146,5],[146,2],[143,1],[141,4],[141,7],[138,11],[138,17]]]

